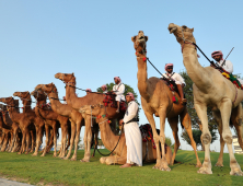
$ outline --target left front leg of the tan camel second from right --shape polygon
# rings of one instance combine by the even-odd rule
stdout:
[[[161,161],[162,161],[161,160],[160,147],[159,147],[160,137],[157,132],[157,126],[155,126],[155,121],[153,119],[153,115],[151,113],[149,113],[148,111],[144,111],[144,114],[146,114],[147,119],[149,120],[149,124],[151,125],[152,132],[153,132],[153,140],[154,140],[154,143],[157,146],[157,164],[153,166],[153,168],[160,168],[160,164],[161,164]],[[164,120],[165,120],[165,118],[164,118]],[[165,155],[164,155],[164,159],[165,159]],[[165,161],[166,161],[166,159],[165,159]],[[169,167],[167,171],[170,171],[170,167]]]

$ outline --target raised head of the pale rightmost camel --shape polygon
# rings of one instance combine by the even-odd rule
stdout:
[[[171,23],[171,24],[169,24],[167,30],[169,30],[170,34],[173,33],[175,35],[177,42],[181,45],[184,45],[184,39],[185,39],[185,42],[190,40],[193,43],[196,43],[194,35],[193,35],[194,28],[189,28],[185,25],[178,26],[174,23]]]

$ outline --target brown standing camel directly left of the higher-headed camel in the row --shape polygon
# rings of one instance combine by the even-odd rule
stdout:
[[[76,135],[76,123],[74,121],[80,121],[81,124],[81,116],[80,114],[77,112],[72,112],[72,108],[70,106],[68,106],[67,104],[61,104],[59,102],[58,98],[58,93],[57,93],[57,89],[55,86],[55,84],[50,83],[50,84],[38,84],[35,86],[35,90],[42,90],[43,92],[45,92],[50,101],[51,104],[51,109],[57,113],[58,115],[60,115],[63,120],[59,120],[60,121],[60,126],[61,126],[61,153],[60,153],[60,158],[61,159],[68,159],[71,155],[71,150],[72,150],[72,146],[73,146],[73,139],[74,139],[74,135]],[[71,147],[69,150],[69,153],[67,155],[67,158],[65,158],[65,151],[66,151],[66,140],[67,140],[67,135],[68,135],[68,125],[69,125],[69,116],[72,116],[70,121],[71,121]],[[76,120],[74,120],[76,119]],[[78,144],[77,144],[78,146]]]

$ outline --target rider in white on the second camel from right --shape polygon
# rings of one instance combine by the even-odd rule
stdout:
[[[182,100],[182,103],[185,104],[186,103],[186,98],[184,98],[184,92],[183,92],[183,88],[186,85],[184,79],[182,78],[181,74],[173,72],[173,63],[166,63],[165,65],[165,73],[163,73],[163,77],[166,78],[170,81],[174,81],[175,84],[177,85],[178,89],[178,93]],[[163,78],[162,77],[162,78]]]

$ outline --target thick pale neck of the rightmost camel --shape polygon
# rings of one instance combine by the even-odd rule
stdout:
[[[196,86],[201,91],[207,93],[211,85],[211,74],[200,66],[197,59],[197,50],[192,45],[185,45],[183,49],[183,63],[186,71],[196,84]]]

